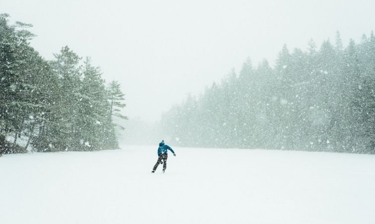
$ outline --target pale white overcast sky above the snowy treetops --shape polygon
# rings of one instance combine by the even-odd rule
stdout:
[[[156,121],[247,57],[274,63],[283,44],[347,45],[375,29],[375,0],[0,0],[10,21],[32,23],[46,59],[68,45],[91,56],[126,94],[125,114]]]

